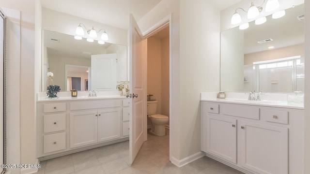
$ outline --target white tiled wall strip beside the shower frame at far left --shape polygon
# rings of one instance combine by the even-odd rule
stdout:
[[[20,163],[20,11],[3,8],[6,20],[7,164]],[[18,174],[19,170],[9,169]]]

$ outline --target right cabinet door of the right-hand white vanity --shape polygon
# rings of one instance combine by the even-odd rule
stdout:
[[[238,122],[240,164],[259,174],[288,174],[288,128]]]

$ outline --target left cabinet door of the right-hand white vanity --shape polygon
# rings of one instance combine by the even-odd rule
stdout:
[[[237,162],[237,120],[207,115],[207,152]]]

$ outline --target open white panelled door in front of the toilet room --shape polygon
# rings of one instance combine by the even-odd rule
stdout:
[[[129,22],[129,92],[132,94],[129,117],[129,162],[132,163],[144,142],[146,127],[144,38],[132,14]],[[144,119],[145,118],[145,119]]]

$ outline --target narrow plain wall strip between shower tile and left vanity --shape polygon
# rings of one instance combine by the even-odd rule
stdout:
[[[16,54],[15,63],[20,63],[20,69],[10,73],[20,74],[20,87],[16,86],[14,92],[20,92],[20,163],[34,164],[36,162],[35,145],[35,0],[5,0],[0,2],[0,6],[16,9],[20,13],[20,52],[18,46],[10,46]],[[40,25],[40,24],[38,24]],[[18,37],[18,34],[14,37]],[[17,48],[17,49],[16,49]],[[20,58],[20,59],[18,59]],[[20,71],[20,73],[19,73]],[[8,74],[9,75],[9,74]],[[17,76],[19,77],[19,76]],[[18,82],[16,82],[18,83]],[[38,86],[40,87],[40,86]],[[17,92],[18,93],[18,92]],[[12,100],[12,98],[11,98]],[[14,98],[16,101],[16,98]],[[17,157],[18,158],[18,151]],[[19,173],[19,172],[18,172]]]

